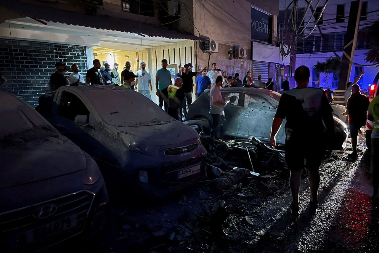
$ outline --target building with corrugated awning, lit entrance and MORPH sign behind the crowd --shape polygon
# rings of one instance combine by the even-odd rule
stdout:
[[[85,75],[94,59],[120,64],[119,73],[125,61],[133,72],[144,61],[158,102],[155,71],[163,58],[173,73],[179,64],[197,71],[217,62],[230,75],[251,71],[264,82],[276,80],[282,60],[276,0],[1,0],[0,13],[0,72],[9,80],[3,90],[32,106],[49,90],[55,62],[66,63],[67,74],[77,63]],[[210,40],[218,42],[211,53]],[[238,48],[245,54],[229,59]]]

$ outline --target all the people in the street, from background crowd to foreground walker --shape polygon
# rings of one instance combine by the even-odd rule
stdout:
[[[152,91],[151,75],[146,70],[146,64],[140,63],[140,69],[133,73],[130,69],[131,63],[127,61],[125,68],[119,76],[117,69],[119,64],[114,63],[113,69],[110,70],[110,64],[103,62],[101,66],[99,60],[93,61],[94,66],[88,69],[86,78],[78,72],[77,64],[72,65],[72,74],[66,79],[64,75],[65,65],[56,63],[56,72],[50,77],[51,89],[56,90],[64,85],[116,85],[124,86],[131,90],[136,90],[138,85],[139,92],[146,97],[150,96]],[[276,85],[271,78],[268,82],[262,81],[262,76],[258,80],[252,80],[251,72],[247,71],[243,80],[240,75],[235,73],[232,77],[227,71],[222,72],[217,68],[217,63],[211,64],[211,69],[207,67],[193,72],[192,64],[179,65],[179,71],[174,75],[174,84],[171,79],[171,72],[167,69],[168,62],[166,59],[161,60],[161,68],[155,73],[155,86],[157,89],[159,106],[177,120],[186,116],[189,105],[192,103],[193,87],[194,94],[199,97],[206,89],[210,89],[210,115],[212,117],[211,135],[218,136],[221,132],[222,121],[224,119],[224,107],[229,102],[228,97],[223,97],[221,88],[223,87],[255,87],[276,91]],[[100,69],[100,70],[99,70]],[[343,116],[347,116],[347,125],[351,137],[352,152],[348,154],[349,159],[357,159],[357,137],[362,134],[361,128],[366,126],[366,152],[371,154],[371,169],[373,173],[374,192],[373,198],[377,195],[379,189],[379,96],[370,100],[367,96],[360,93],[358,80],[364,72],[357,77],[354,82],[347,83],[345,92],[346,110]],[[193,78],[195,84],[193,83]],[[286,119],[286,149],[285,160],[290,174],[290,186],[293,196],[291,210],[293,214],[299,214],[299,187],[301,172],[303,168],[309,170],[311,196],[310,210],[316,212],[318,209],[318,187],[319,187],[319,167],[323,158],[323,141],[324,126],[327,134],[334,133],[334,121],[332,117],[332,108],[328,101],[325,91],[318,88],[308,87],[310,71],[306,66],[300,66],[294,73],[294,80],[297,87],[290,90],[288,77],[282,83],[282,90],[286,91],[279,101],[276,115],[273,119],[273,125],[270,135],[270,145],[276,146],[276,134]],[[137,80],[137,81],[135,81]],[[299,103],[298,101],[302,101]],[[306,113],[304,113],[306,112]],[[182,114],[183,113],[183,114]],[[305,129],[307,125],[312,129]],[[304,140],[307,133],[312,132],[313,141],[309,143]],[[305,163],[304,163],[305,161]]]

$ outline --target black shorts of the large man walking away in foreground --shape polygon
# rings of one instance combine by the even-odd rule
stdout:
[[[285,163],[290,171],[298,171],[306,168],[309,171],[316,171],[320,168],[325,151],[322,144],[312,143],[304,145],[300,141],[286,141]]]

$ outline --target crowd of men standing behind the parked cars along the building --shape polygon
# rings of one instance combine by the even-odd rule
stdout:
[[[114,63],[111,69],[107,61],[93,60],[93,67],[88,69],[86,75],[79,73],[78,65],[72,65],[72,73],[66,78],[67,67],[64,63],[56,63],[54,72],[50,76],[50,88],[55,91],[61,86],[77,86],[77,85],[114,85],[124,86],[127,89],[136,91],[152,99],[150,92],[153,90],[152,77],[146,69],[146,63],[141,61],[140,68],[134,74],[130,69],[132,63],[125,62],[125,67],[118,73],[119,64]],[[211,64],[211,69],[205,67],[198,72],[193,72],[193,65],[187,63],[184,66],[178,66],[178,72],[174,75],[174,84],[172,84],[171,72],[167,69],[168,62],[166,59],[161,60],[161,68],[155,72],[155,87],[157,90],[159,106],[168,112],[173,118],[181,120],[187,115],[189,105],[192,104],[192,94],[196,99],[211,85],[216,84],[218,77],[221,77],[220,87],[254,87],[264,88],[276,91],[273,79],[269,78],[267,83],[262,81],[259,75],[256,81],[252,80],[251,72],[247,71],[243,80],[240,80],[239,73],[235,73],[232,77],[227,71],[221,72],[217,68],[217,63]],[[193,83],[193,78],[195,83]],[[176,81],[179,79],[178,81]],[[137,88],[138,87],[138,88]],[[193,88],[195,90],[193,91]],[[175,98],[174,98],[175,97]],[[175,108],[175,110],[173,110]],[[178,116],[179,115],[179,116]]]

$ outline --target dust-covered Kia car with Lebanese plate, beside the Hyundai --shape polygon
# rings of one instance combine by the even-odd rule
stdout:
[[[121,188],[138,183],[162,195],[205,175],[206,150],[196,130],[133,90],[60,87],[41,96],[36,109],[96,158],[108,188],[108,182]]]

